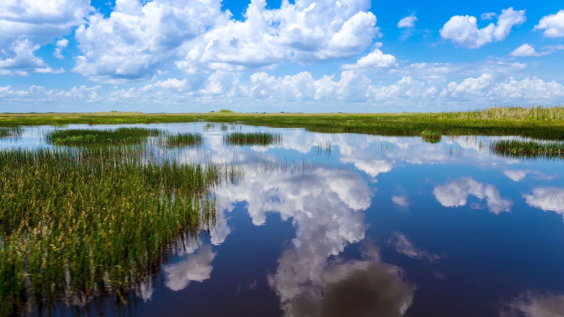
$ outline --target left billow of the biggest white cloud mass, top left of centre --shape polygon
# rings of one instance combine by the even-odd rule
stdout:
[[[177,58],[178,47],[206,32],[228,13],[215,0],[117,0],[108,17],[95,12],[76,30],[74,72],[92,80],[150,78]]]

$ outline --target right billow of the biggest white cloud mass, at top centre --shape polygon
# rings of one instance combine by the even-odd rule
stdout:
[[[184,73],[269,70],[283,61],[313,61],[359,54],[380,34],[371,2],[298,0],[267,9],[253,0],[244,21],[229,20],[183,46],[175,62]]]

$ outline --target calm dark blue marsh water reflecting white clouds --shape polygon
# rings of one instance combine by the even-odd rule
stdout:
[[[68,303],[59,314],[564,315],[560,160],[498,156],[491,137],[144,126],[202,133],[202,146],[174,151],[243,164],[245,176],[215,188],[214,226],[187,236],[124,300]],[[61,127],[27,127],[0,146],[48,146],[51,129]],[[222,142],[228,131],[283,138],[234,147]]]

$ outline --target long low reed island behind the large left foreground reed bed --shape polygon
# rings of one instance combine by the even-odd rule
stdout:
[[[57,146],[87,146],[141,143],[148,137],[156,137],[160,134],[160,130],[145,127],[118,127],[103,130],[64,129],[51,131],[45,136],[45,139]]]

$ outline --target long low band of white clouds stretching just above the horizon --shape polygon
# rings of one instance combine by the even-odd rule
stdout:
[[[340,103],[363,103],[367,106],[386,104],[394,107],[410,102],[421,105],[421,107],[456,105],[465,109],[468,108],[469,103],[472,103],[473,106],[486,106],[492,103],[507,102],[547,104],[564,100],[564,86],[556,81],[545,82],[537,77],[517,80],[514,77],[503,76],[504,72],[521,69],[523,65],[525,64],[500,64],[481,76],[452,82],[447,82],[444,76],[425,75],[425,73],[451,72],[456,69],[461,69],[460,73],[464,73],[465,68],[451,64],[413,65],[409,72],[413,72],[417,77],[403,76],[391,85],[377,85],[367,76],[355,70],[343,71],[338,80],[334,76],[315,79],[309,72],[284,77],[275,77],[266,72],[260,72],[250,75],[249,80],[245,80],[239,73],[217,71],[201,80],[169,78],[138,88],[101,89],[100,86],[91,88],[81,86],[80,88],[74,87],[71,91],[77,91],[73,93],[72,102],[77,101],[77,98],[84,98],[83,102],[104,100],[108,105],[166,104],[184,105],[184,107],[188,105],[223,107],[229,103],[233,105],[232,107],[247,107],[249,104],[256,103],[255,105],[259,104],[259,107],[264,107],[271,103],[279,107],[280,102],[287,102],[287,105],[290,102],[300,102],[295,106],[303,109],[304,105],[310,102],[337,107],[334,108],[336,111],[338,107],[343,107]],[[483,68],[489,67],[483,65]],[[36,69],[36,71],[39,70],[39,68]],[[54,72],[50,68],[45,68],[44,71]],[[17,71],[14,71],[13,74],[17,74]],[[86,91],[90,89],[93,91]],[[9,91],[14,92],[11,89]],[[6,93],[0,100],[20,105],[33,102],[70,104],[70,100],[60,99],[61,93],[63,91],[56,89],[33,95],[25,91],[24,94],[14,92]]]

